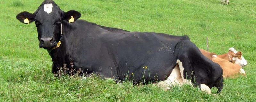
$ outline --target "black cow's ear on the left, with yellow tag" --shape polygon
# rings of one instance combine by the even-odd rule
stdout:
[[[35,15],[29,12],[21,12],[16,16],[20,22],[29,24],[35,20]]]

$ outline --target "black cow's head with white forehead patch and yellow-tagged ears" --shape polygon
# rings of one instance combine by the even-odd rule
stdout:
[[[16,18],[25,24],[35,21],[39,47],[52,49],[61,38],[62,23],[71,23],[81,17],[77,11],[62,11],[52,0],[45,0],[34,13],[21,12]]]

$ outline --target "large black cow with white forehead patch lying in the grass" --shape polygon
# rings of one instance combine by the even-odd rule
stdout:
[[[221,67],[202,55],[188,36],[155,32],[129,32],[77,20],[81,14],[62,11],[52,0],[45,0],[32,14],[21,12],[16,18],[35,21],[39,47],[52,58],[52,72],[64,63],[83,74],[98,73],[120,81],[133,77],[134,83],[166,80],[177,60],[182,62],[184,78],[194,86],[223,87]],[[148,69],[144,69],[144,68]],[[145,71],[149,70],[149,71]]]

